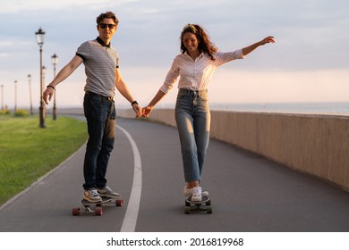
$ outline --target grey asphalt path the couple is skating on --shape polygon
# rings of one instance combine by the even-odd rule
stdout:
[[[122,207],[104,206],[102,216],[72,216],[83,192],[82,146],[0,207],[0,231],[349,231],[348,193],[212,139],[201,186],[209,191],[213,213],[184,214],[177,130],[127,119],[118,119],[117,124],[122,129],[116,129],[106,178],[109,187],[123,195]]]

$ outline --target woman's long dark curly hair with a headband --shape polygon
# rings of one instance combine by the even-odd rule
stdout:
[[[216,60],[213,57],[213,53],[218,51],[218,48],[210,41],[209,35],[207,32],[200,27],[198,24],[188,24],[183,28],[181,34],[181,52],[184,54],[187,51],[187,48],[183,44],[183,36],[185,33],[191,32],[196,36],[196,38],[200,41],[198,48],[201,52],[209,54],[211,60]]]

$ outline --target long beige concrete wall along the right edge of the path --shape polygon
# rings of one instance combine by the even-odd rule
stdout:
[[[118,110],[133,118],[131,110]],[[211,112],[211,137],[309,173],[349,191],[349,117],[261,112]],[[175,127],[174,110],[151,121]]]

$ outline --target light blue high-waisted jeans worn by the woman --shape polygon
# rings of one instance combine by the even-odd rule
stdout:
[[[180,88],[175,104],[175,121],[181,141],[184,179],[200,181],[209,146],[210,112],[207,90]]]

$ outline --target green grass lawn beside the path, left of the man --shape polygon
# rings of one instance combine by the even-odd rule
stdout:
[[[88,137],[85,121],[60,116],[45,123],[40,129],[38,116],[0,115],[0,204],[64,162]]]

